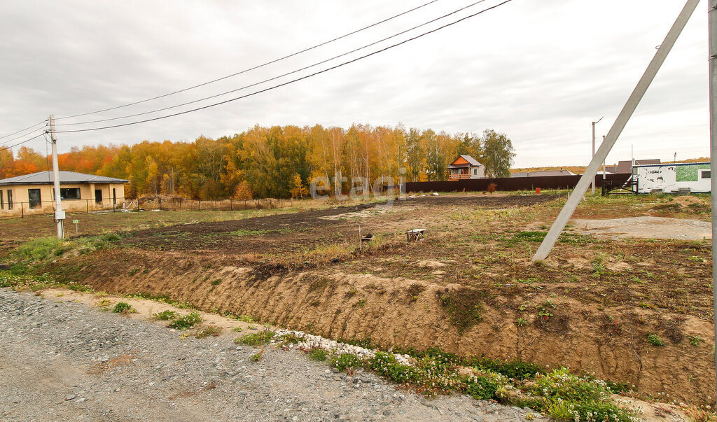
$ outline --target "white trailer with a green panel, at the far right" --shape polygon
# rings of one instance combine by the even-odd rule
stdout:
[[[637,193],[707,193],[710,163],[648,164],[632,167]]]

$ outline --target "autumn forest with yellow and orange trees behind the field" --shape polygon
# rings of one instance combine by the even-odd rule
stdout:
[[[187,198],[287,198],[305,196],[317,176],[407,181],[447,178],[457,155],[472,155],[486,176],[508,176],[511,140],[503,133],[483,134],[351,125],[255,126],[218,139],[194,142],[143,141],[136,145],[87,145],[59,156],[60,169],[130,181],[125,195],[168,194]],[[49,164],[48,164],[49,163]],[[0,178],[51,169],[52,160],[30,148],[0,151]],[[348,182],[343,188],[351,188]]]

